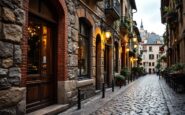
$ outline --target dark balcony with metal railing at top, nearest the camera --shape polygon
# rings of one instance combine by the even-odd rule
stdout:
[[[107,19],[117,20],[120,18],[121,5],[118,0],[105,0],[105,15]]]

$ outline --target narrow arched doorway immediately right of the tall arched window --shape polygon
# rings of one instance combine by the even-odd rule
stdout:
[[[101,38],[96,36],[96,90],[101,89]]]

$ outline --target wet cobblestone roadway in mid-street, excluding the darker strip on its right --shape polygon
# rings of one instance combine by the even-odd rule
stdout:
[[[90,115],[169,115],[169,110],[159,78],[147,75]]]

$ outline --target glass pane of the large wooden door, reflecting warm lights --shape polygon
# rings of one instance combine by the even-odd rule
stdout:
[[[50,28],[30,19],[28,33],[27,73],[46,76],[49,74],[49,66],[51,65]]]

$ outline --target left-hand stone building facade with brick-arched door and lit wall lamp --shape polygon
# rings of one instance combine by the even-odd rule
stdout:
[[[128,36],[120,34],[120,17],[133,6],[134,0],[1,0],[0,114],[70,107],[78,89],[87,99],[102,83],[111,87]]]

